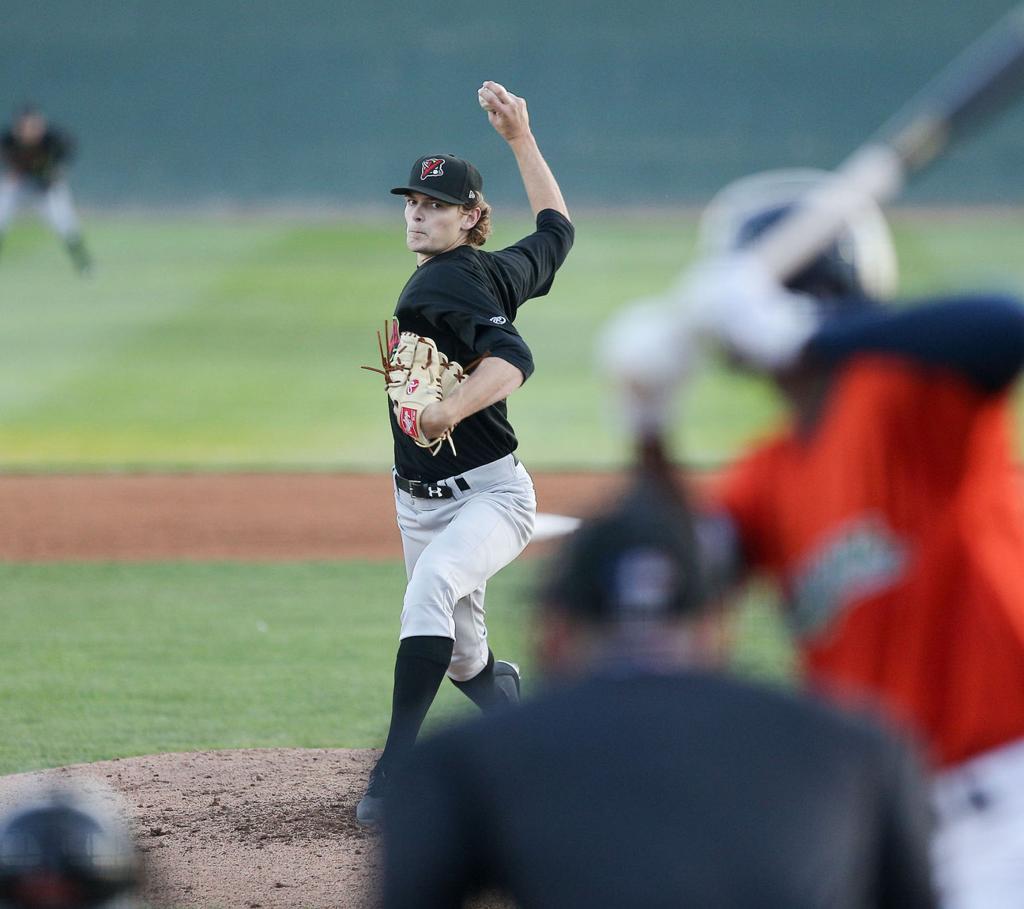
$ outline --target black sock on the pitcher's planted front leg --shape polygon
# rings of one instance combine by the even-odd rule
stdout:
[[[452,662],[454,647],[455,641],[451,638],[426,636],[406,638],[398,645],[391,695],[391,727],[380,761],[383,768],[394,767],[412,750]]]

